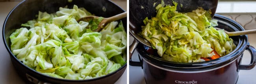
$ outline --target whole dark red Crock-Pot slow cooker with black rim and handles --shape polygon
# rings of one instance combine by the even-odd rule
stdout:
[[[244,30],[237,22],[215,14],[218,28],[227,31]],[[147,84],[236,84],[239,70],[250,70],[256,64],[256,50],[248,43],[247,35],[231,37],[236,49],[218,59],[198,63],[176,63],[165,61],[157,55],[156,50],[139,44],[139,62],[130,59],[131,66],[141,66]],[[135,40],[136,41],[136,40]],[[136,43],[134,41],[134,43]],[[241,64],[244,50],[250,52],[248,65]]]

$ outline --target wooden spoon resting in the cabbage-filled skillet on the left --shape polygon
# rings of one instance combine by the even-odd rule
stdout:
[[[100,32],[102,30],[102,27],[105,25],[105,24],[108,24],[109,22],[112,22],[112,21],[116,21],[116,20],[120,20],[122,18],[125,18],[127,16],[127,12],[124,12],[124,13],[121,13],[121,14],[117,14],[115,16],[111,16],[109,18],[103,18],[102,21],[100,21],[100,23],[98,24],[98,29],[94,30],[95,32]],[[80,18],[78,21],[89,21],[91,19],[97,19],[99,18],[98,16],[86,16],[86,17],[83,17],[83,18]]]

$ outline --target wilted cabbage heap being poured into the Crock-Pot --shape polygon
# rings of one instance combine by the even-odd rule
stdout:
[[[156,17],[143,20],[141,35],[152,44],[162,59],[180,63],[204,61],[211,57],[213,49],[220,55],[229,54],[236,48],[233,40],[216,30],[217,20],[211,19],[210,11],[201,7],[190,13],[178,13],[174,6],[158,4]]]

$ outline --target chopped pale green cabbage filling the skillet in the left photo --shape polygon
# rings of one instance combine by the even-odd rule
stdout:
[[[113,21],[93,32],[88,28],[96,27],[95,21],[76,21],[89,15],[76,5],[60,7],[53,14],[39,11],[36,20],[11,34],[11,51],[30,68],[60,79],[92,79],[118,70],[126,64],[122,22]]]

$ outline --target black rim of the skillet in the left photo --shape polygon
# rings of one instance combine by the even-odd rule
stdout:
[[[111,3],[111,4],[113,4],[113,5],[115,5],[115,6],[117,6],[117,7],[119,7],[123,12],[125,12],[125,10],[122,9],[119,5],[113,3],[113,2],[110,1],[110,0],[106,0],[106,1],[109,2],[109,3]],[[6,22],[7,22],[8,18],[9,18],[9,16],[10,16],[10,14],[13,13],[13,11],[14,11],[19,5],[21,5],[21,4],[24,3],[24,2],[26,2],[26,0],[21,1],[19,4],[17,4],[15,7],[13,7],[13,9],[12,9],[12,10],[9,12],[9,14],[7,15],[7,17],[6,17],[5,21],[4,21],[4,24],[3,24],[2,37],[3,37],[3,40],[4,40],[4,46],[6,47],[6,49],[7,49],[8,53],[9,53],[10,57],[12,57],[13,59],[15,59],[15,61],[18,61],[18,62],[19,62],[23,67],[25,67],[26,69],[31,70],[32,72],[30,72],[30,73],[33,73],[33,74],[36,73],[37,75],[39,75],[39,76],[41,76],[41,77],[48,77],[48,78],[51,78],[51,79],[54,79],[54,80],[60,80],[60,81],[67,81],[67,82],[85,82],[85,81],[94,81],[94,80],[99,80],[99,79],[103,79],[103,78],[109,77],[110,75],[114,75],[115,73],[117,73],[118,71],[122,70],[123,68],[126,68],[127,62],[126,62],[121,68],[119,68],[118,70],[113,71],[113,72],[111,72],[111,73],[109,73],[109,74],[107,74],[107,75],[103,75],[103,76],[101,76],[101,77],[95,77],[95,78],[92,78],[92,79],[85,79],[85,80],[69,80],[69,79],[59,79],[59,78],[56,78],[56,77],[50,77],[50,76],[48,76],[48,75],[43,75],[42,73],[39,73],[38,71],[35,71],[35,70],[33,70],[32,68],[30,68],[30,67],[26,66],[25,64],[21,63],[21,62],[17,59],[17,57],[15,57],[15,55],[13,55],[13,53],[11,52],[11,49],[10,49],[9,46],[7,45],[4,30],[6,29],[6,28],[5,28],[5,27],[6,27]],[[29,74],[29,73],[28,73],[28,74]],[[30,75],[33,75],[33,74],[30,74]]]

